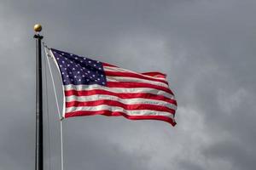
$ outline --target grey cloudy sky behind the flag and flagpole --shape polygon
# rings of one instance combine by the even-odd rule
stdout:
[[[176,127],[123,117],[67,119],[65,169],[255,169],[255,14],[255,0],[1,0],[0,169],[34,168],[38,22],[49,47],[165,72],[177,96]],[[61,104],[57,74],[55,81]],[[48,68],[47,103],[44,167],[60,169]]]

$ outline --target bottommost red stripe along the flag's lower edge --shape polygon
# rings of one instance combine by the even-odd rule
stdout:
[[[176,122],[172,118],[167,116],[129,116],[123,112],[119,111],[74,111],[65,114],[65,118],[73,116],[92,116],[92,115],[104,115],[104,116],[125,116],[125,118],[130,120],[159,120],[164,122],[169,122],[174,127]]]

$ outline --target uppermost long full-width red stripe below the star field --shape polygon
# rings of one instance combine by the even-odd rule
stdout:
[[[101,90],[101,89],[95,89],[95,90],[83,90],[83,91],[77,91],[77,90],[68,90],[65,91],[65,96],[71,96],[71,95],[76,95],[76,96],[90,96],[90,95],[95,95],[95,94],[105,94],[105,95],[112,95],[119,97],[120,99],[134,99],[134,98],[143,98],[143,99],[156,99],[156,100],[162,100],[166,101],[170,104],[177,105],[177,102],[175,99],[169,99],[166,98],[163,95],[156,95],[156,94],[145,94],[145,93],[138,93],[138,94],[118,94],[118,93],[113,93],[109,92],[106,90]]]

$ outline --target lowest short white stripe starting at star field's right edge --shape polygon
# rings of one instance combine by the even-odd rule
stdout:
[[[135,77],[109,77],[108,76],[107,81],[108,82],[146,82],[156,86],[169,88],[168,85],[164,82],[150,81],[150,80],[145,80],[142,78],[135,78]]]

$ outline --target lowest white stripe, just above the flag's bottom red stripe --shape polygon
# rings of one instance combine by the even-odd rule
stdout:
[[[139,110],[139,111],[127,111],[124,108],[109,105],[97,105],[90,107],[69,107],[66,109],[66,113],[73,111],[119,111],[129,116],[166,116],[173,119],[172,113],[166,111],[150,111],[150,110]]]

